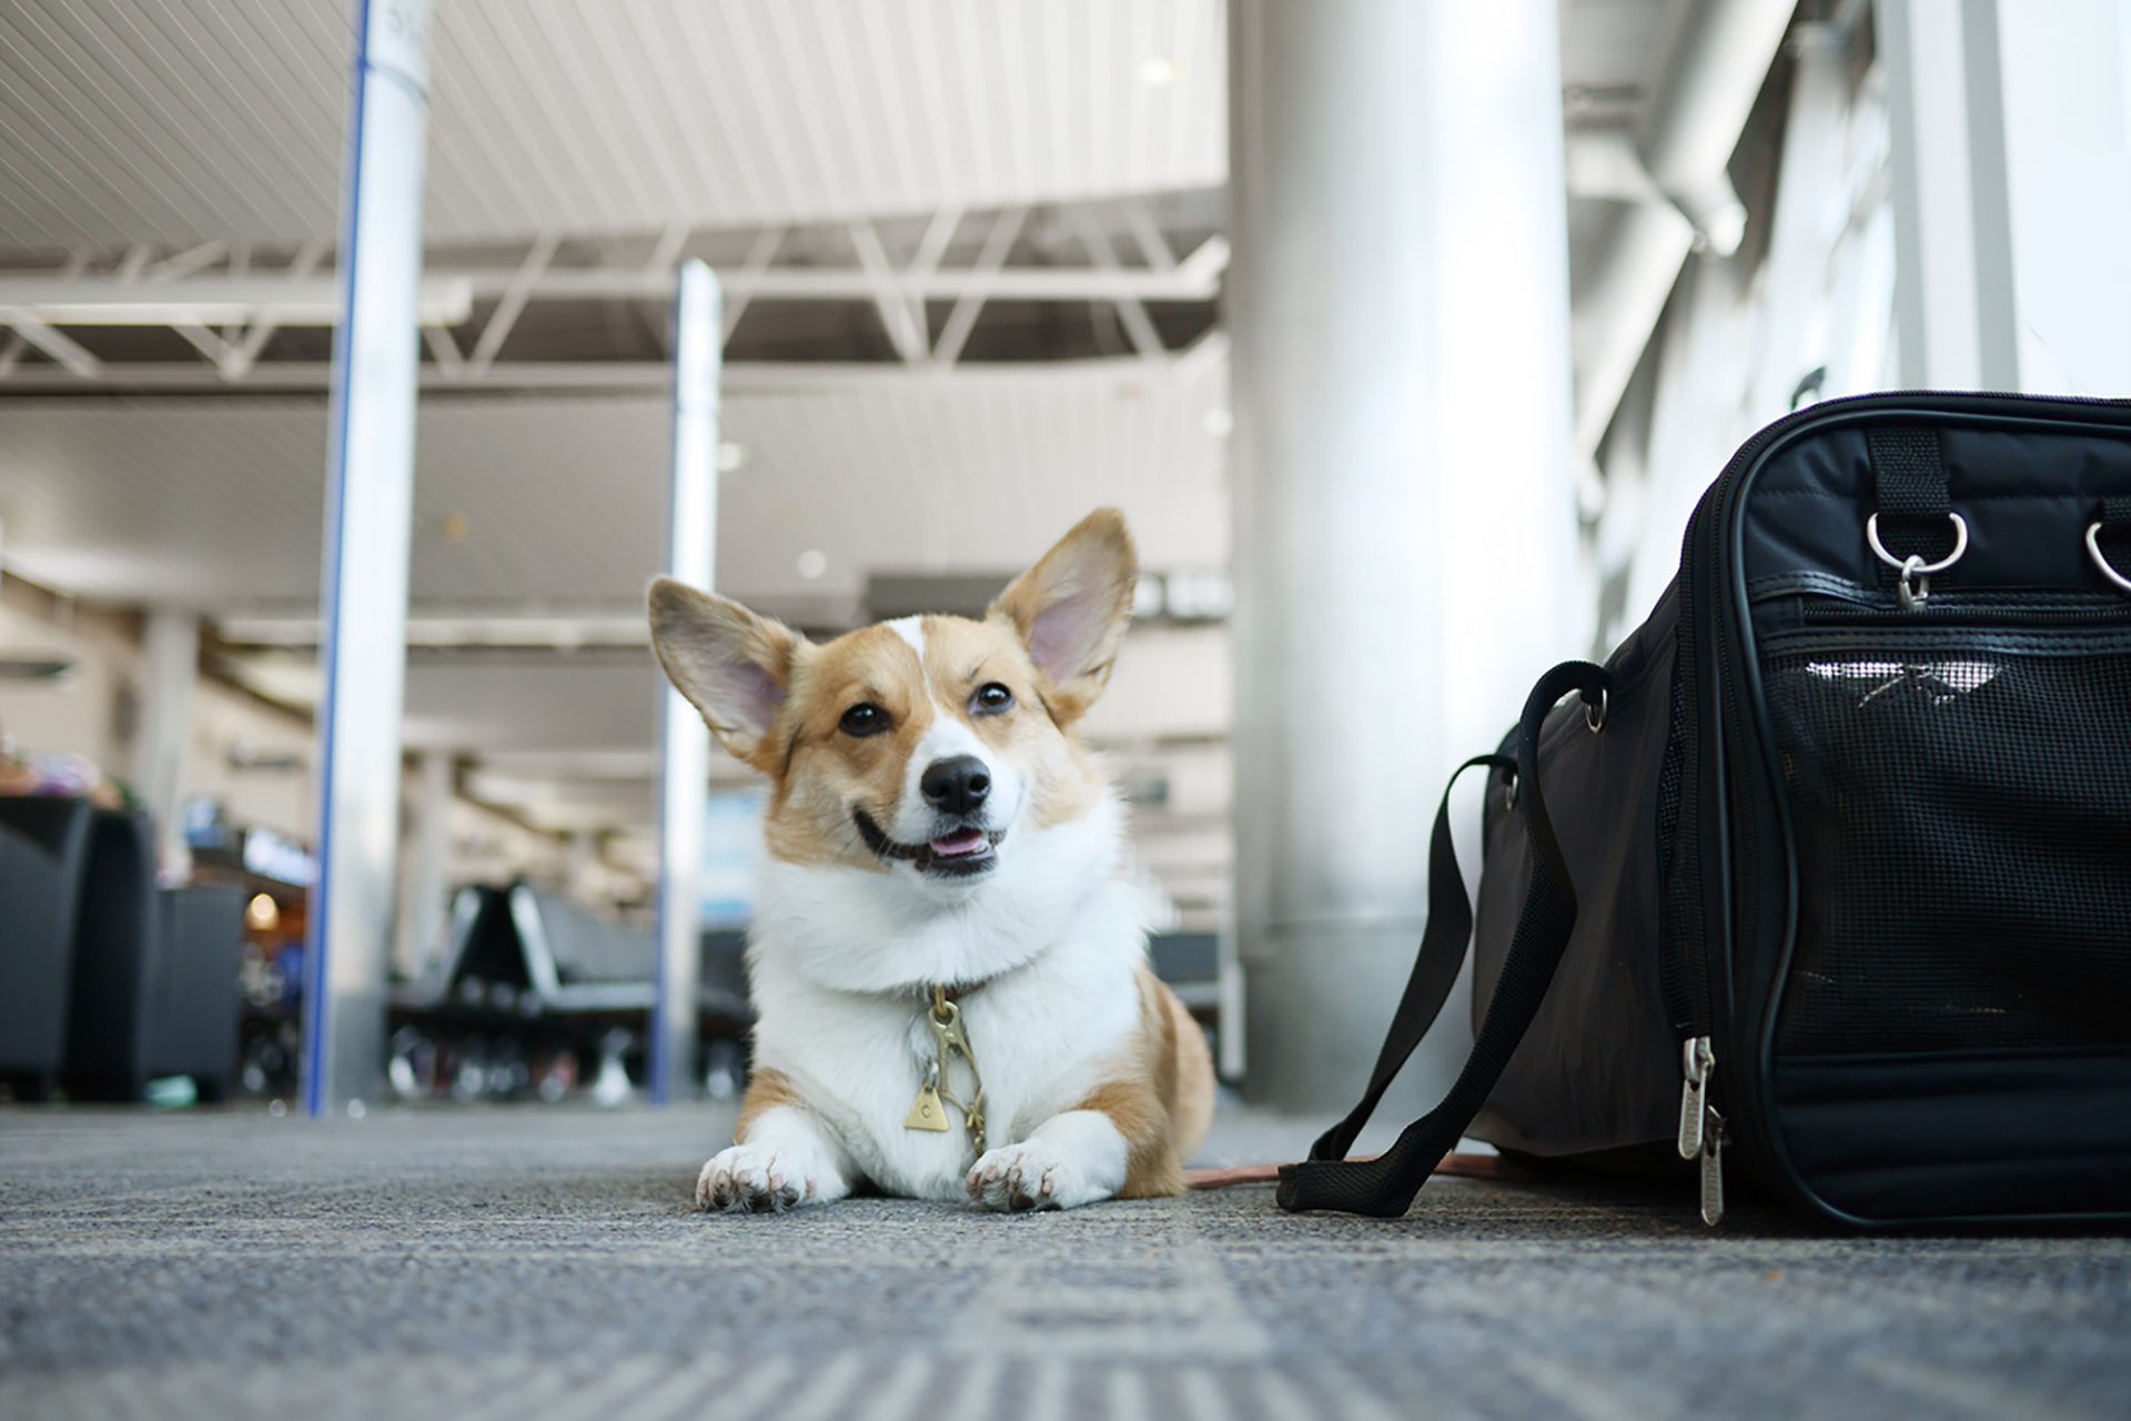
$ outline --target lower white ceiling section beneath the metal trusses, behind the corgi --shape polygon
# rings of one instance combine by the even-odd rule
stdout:
[[[1102,503],[1127,511],[1149,567],[1223,567],[1223,445],[1206,432],[1223,401],[1217,362],[1136,360],[729,394],[746,464],[720,488],[718,584],[848,614],[869,571],[1012,569]],[[315,609],[320,401],[9,401],[0,432],[13,571],[94,601]],[[633,611],[663,558],[667,452],[658,396],[424,401],[416,609]],[[799,573],[808,550],[818,579]]]

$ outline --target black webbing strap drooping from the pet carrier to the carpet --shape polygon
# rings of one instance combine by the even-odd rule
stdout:
[[[1281,1185],[1274,1195],[1281,1208],[1294,1212],[1328,1208],[1377,1219],[1404,1214],[1436,1163],[1451,1153],[1473,1116],[1487,1104],[1511,1052],[1532,1027],[1539,1003],[1553,982],[1553,969],[1568,948],[1568,935],[1577,927],[1577,891],[1568,878],[1562,846],[1553,837],[1553,820],[1547,818],[1547,799],[1539,788],[1539,733],[1547,712],[1571,690],[1583,697],[1585,707],[1605,705],[1611,680],[1603,667],[1588,660],[1564,660],[1539,677],[1524,703],[1524,716],[1517,722],[1519,793],[1513,812],[1522,816],[1526,839],[1532,846],[1532,878],[1524,891],[1524,908],[1517,912],[1517,929],[1509,940],[1509,957],[1502,961],[1502,978],[1494,986],[1487,1016],[1481,1020],[1473,1055],[1466,1057],[1458,1080],[1434,1110],[1406,1125],[1389,1150],[1366,1161],[1340,1159],[1362,1131],[1370,1110],[1377,1108],[1392,1076],[1398,1074],[1421,1033],[1443,1010],[1443,997],[1458,976],[1458,965],[1464,961],[1473,935],[1464,880],[1449,846],[1449,790],[1445,790],[1430,846],[1428,931],[1377,1059],[1377,1072],[1362,1104],[1325,1131],[1311,1148],[1311,1159],[1281,1165]],[[1460,765],[1458,773],[1500,758],[1477,756]],[[1455,780],[1455,775],[1451,778]],[[1449,871],[1443,871],[1445,867]],[[1449,908],[1451,899],[1455,899],[1455,908]],[[1449,910],[1447,916],[1445,910]],[[1436,991],[1438,982],[1441,991]]]

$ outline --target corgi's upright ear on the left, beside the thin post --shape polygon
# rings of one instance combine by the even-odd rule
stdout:
[[[763,750],[784,709],[806,637],[735,601],[658,577],[650,590],[652,650],[673,686],[742,761],[767,773]]]

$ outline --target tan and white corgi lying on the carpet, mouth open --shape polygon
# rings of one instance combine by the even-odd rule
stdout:
[[[1213,1059],[1146,965],[1125,812],[1074,726],[1132,618],[1100,509],[982,620],[814,643],[661,577],[652,648],[769,780],[754,1074],[710,1210],[855,1189],[991,1210],[1174,1195]]]

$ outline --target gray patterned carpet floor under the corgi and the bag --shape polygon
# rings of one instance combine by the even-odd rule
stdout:
[[[0,1110],[0,1417],[2127,1417],[2131,1240],[1436,1180],[688,1210],[710,1108]],[[1230,1112],[1208,1157],[1302,1148]]]

